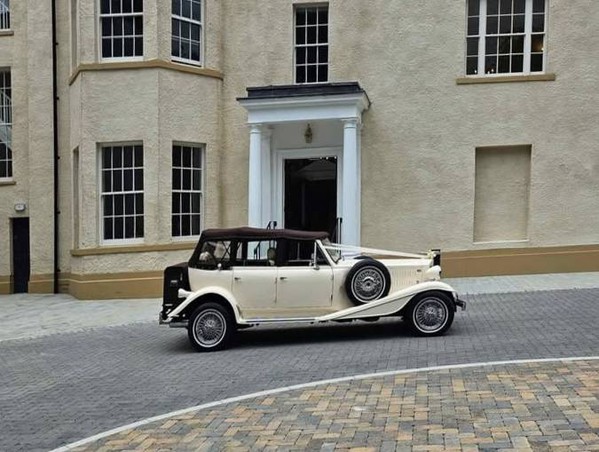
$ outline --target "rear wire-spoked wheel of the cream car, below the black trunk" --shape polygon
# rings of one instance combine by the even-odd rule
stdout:
[[[231,314],[217,303],[200,305],[191,315],[187,334],[191,345],[199,352],[226,348],[235,332]]]

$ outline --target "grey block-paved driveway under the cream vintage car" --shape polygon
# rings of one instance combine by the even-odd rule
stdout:
[[[314,380],[444,364],[599,354],[599,290],[469,297],[449,334],[401,321],[263,327],[234,349],[191,352],[153,323],[0,342],[0,450],[48,450],[226,397]]]

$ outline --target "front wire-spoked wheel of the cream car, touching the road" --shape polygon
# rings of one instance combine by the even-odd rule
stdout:
[[[454,308],[443,292],[416,295],[404,315],[412,331],[420,336],[440,336],[453,323]]]

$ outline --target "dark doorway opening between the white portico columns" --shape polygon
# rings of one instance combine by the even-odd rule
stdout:
[[[285,227],[332,234],[337,217],[337,158],[285,160]]]

